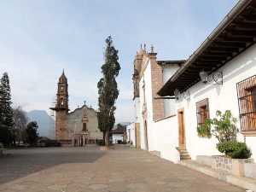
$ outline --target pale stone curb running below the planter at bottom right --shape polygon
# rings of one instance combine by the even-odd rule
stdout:
[[[218,178],[227,183],[234,184],[243,189],[250,189],[250,190],[253,190],[256,192],[256,181],[253,178],[237,177],[234,175],[230,175],[227,172],[220,172],[218,170],[212,170],[212,168],[210,168],[208,166],[203,166],[203,165],[195,162],[195,160],[180,160],[178,163],[182,166],[189,167],[190,169],[193,169],[197,172],[202,172],[206,175]]]

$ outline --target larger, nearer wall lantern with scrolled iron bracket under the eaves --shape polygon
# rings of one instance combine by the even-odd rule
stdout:
[[[214,72],[208,75],[209,72],[201,70],[199,76],[201,78],[201,82],[204,84],[210,83],[213,81],[212,84],[223,84],[223,74],[222,72]]]

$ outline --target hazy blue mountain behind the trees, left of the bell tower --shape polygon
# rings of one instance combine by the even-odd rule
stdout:
[[[52,118],[44,110],[32,110],[27,112],[29,121],[38,122],[38,133],[42,137],[50,137],[49,128],[52,125]]]

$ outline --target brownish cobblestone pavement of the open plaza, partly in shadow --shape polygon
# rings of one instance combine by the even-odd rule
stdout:
[[[0,157],[0,191],[241,192],[184,166],[124,146],[9,150]],[[5,152],[6,153],[6,152]]]

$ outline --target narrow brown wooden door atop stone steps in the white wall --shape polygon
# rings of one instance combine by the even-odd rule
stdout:
[[[185,147],[186,139],[185,139],[185,125],[184,125],[183,109],[179,109],[177,111],[177,114],[178,114],[178,145],[179,145],[179,147]]]

